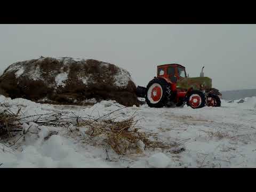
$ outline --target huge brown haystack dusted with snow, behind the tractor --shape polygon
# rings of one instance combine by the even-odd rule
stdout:
[[[44,58],[16,62],[0,77],[0,94],[36,102],[76,103],[116,100],[138,106],[128,71],[93,59]]]

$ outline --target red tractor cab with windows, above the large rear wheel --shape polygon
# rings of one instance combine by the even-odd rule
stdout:
[[[187,77],[185,67],[182,65],[173,63],[157,66],[157,77],[164,77],[172,81],[173,78],[177,78],[177,82]]]

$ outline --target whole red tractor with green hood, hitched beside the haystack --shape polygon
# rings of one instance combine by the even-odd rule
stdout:
[[[138,86],[137,97],[145,98],[149,107],[183,107],[193,109],[204,106],[220,107],[221,93],[212,88],[212,79],[188,77],[184,66],[177,63],[157,66],[157,77],[147,87]]]

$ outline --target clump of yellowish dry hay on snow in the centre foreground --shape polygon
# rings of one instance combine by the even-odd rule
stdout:
[[[122,121],[86,120],[78,126],[89,126],[85,132],[87,141],[94,145],[110,146],[118,155],[140,154],[147,148],[169,149],[177,146],[175,143],[151,140],[150,137],[157,137],[157,134],[141,132],[136,126],[137,122],[133,115]]]

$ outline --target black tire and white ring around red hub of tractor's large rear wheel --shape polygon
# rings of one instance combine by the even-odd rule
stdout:
[[[161,96],[161,99],[159,99],[158,101],[153,101],[153,99],[149,97],[149,95],[152,94],[150,93],[151,91],[149,89],[151,89],[152,86],[154,86],[153,84],[158,84],[162,88],[162,96]],[[154,78],[153,80],[151,80],[147,85],[146,95],[145,95],[148,106],[156,107],[156,108],[166,106],[166,103],[168,102],[168,99],[169,99],[170,91],[171,91],[170,85],[164,79]]]

